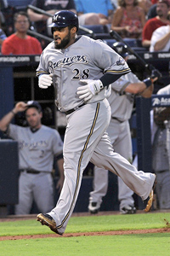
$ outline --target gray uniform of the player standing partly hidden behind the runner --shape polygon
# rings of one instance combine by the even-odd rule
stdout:
[[[128,120],[133,110],[134,95],[124,90],[128,84],[139,83],[140,80],[133,73],[127,73],[115,83],[111,84],[111,96],[108,101],[111,106],[111,122],[107,129],[111,144],[118,154],[132,162],[132,141]],[[90,192],[89,202],[97,202],[100,207],[102,198],[108,188],[108,172],[97,166],[94,167],[94,191]],[[118,177],[118,199],[120,210],[123,207],[133,206],[133,191]],[[90,204],[89,204],[90,207]]]

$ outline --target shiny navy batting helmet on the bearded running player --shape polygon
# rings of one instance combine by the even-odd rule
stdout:
[[[61,10],[56,12],[53,16],[52,23],[49,27],[66,27],[66,26],[76,26],[78,31],[78,17],[75,13],[69,10]]]

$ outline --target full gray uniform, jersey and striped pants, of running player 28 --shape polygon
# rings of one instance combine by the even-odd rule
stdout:
[[[37,75],[54,73],[56,102],[60,111],[82,104],[77,95],[80,79],[100,79],[104,73],[125,74],[130,71],[122,57],[101,41],[82,36],[66,49],[54,49],[54,42],[43,50]],[[155,180],[152,173],[138,172],[120,154],[113,151],[105,132],[111,119],[111,107],[101,90],[82,108],[67,114],[64,140],[65,182],[56,207],[48,214],[56,229],[64,233],[75,207],[82,173],[89,161],[122,177],[142,199],[146,199]]]

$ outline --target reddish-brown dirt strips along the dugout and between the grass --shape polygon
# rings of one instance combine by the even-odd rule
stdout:
[[[156,212],[170,212],[170,211],[154,211]],[[144,213],[143,211],[138,211],[137,213]],[[99,212],[97,215],[113,215],[120,214],[119,212]],[[147,214],[147,213],[146,213]],[[72,217],[78,216],[90,216],[89,212],[73,213]],[[0,218],[0,222],[6,221],[16,221],[16,220],[26,220],[26,219],[36,219],[36,215],[25,215],[25,216],[8,216]],[[118,230],[118,231],[105,231],[105,232],[86,232],[86,233],[65,233],[63,236],[57,234],[48,235],[31,235],[31,236],[0,236],[0,241],[4,240],[19,240],[19,239],[37,239],[37,238],[48,238],[48,237],[73,237],[73,236],[115,236],[115,235],[130,235],[130,234],[148,234],[148,233],[168,233],[170,232],[170,224],[165,219],[165,228],[162,229],[150,229],[150,230]]]

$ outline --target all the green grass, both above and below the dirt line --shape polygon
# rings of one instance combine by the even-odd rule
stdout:
[[[65,233],[164,228],[170,213],[71,217]],[[54,234],[36,220],[0,223],[0,236]],[[57,236],[0,241],[2,256],[169,256],[170,233],[123,236]]]

